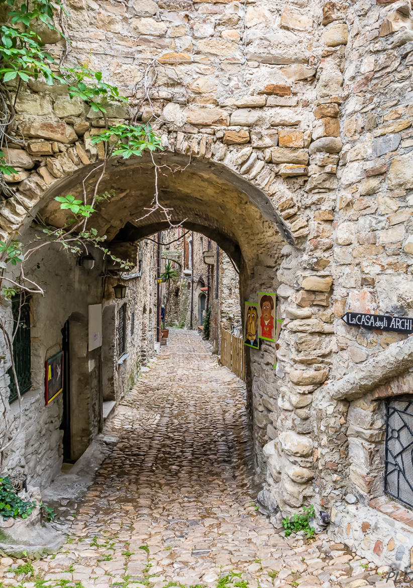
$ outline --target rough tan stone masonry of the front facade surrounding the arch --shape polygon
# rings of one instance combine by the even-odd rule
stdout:
[[[413,564],[412,512],[383,481],[385,402],[412,394],[409,343],[340,319],[413,316],[410,0],[68,6],[69,62],[102,70],[152,121],[168,161],[191,161],[163,180],[167,205],[237,259],[242,300],[267,289],[281,300],[277,370],[273,344],[249,351],[260,499],[283,513],[313,503],[361,555]],[[144,92],[146,70],[156,79]],[[8,151],[18,172],[2,238],[33,211],[58,222],[52,195],[75,193],[103,156],[90,138],[104,121],[64,88],[31,82],[16,108],[25,143]],[[111,123],[130,115],[108,111]],[[147,162],[116,162],[103,181],[119,193],[99,225],[112,239],[142,216],[137,177],[149,190]]]

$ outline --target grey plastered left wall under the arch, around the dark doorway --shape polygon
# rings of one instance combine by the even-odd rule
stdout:
[[[35,233],[25,233],[25,238],[35,238]],[[63,397],[59,395],[45,406],[45,360],[62,350],[61,329],[66,320],[73,319],[80,326],[76,333],[73,364],[83,364],[88,358],[88,369],[82,382],[73,382],[76,387],[76,419],[72,419],[73,457],[79,457],[90,440],[102,426],[99,410],[99,390],[96,375],[100,372],[100,353],[88,354],[88,305],[98,302],[100,292],[99,273],[102,260],[96,260],[93,270],[76,266],[76,259],[68,252],[59,251],[49,245],[36,252],[29,268],[28,278],[35,280],[45,290],[45,295],[33,295],[31,307],[32,388],[22,397],[22,427],[15,443],[5,452],[3,470],[15,473],[25,471],[33,485],[47,485],[60,470],[62,463]],[[5,313],[10,315],[9,303],[4,303]],[[76,358],[75,358],[76,355]],[[80,359],[79,359],[80,358]],[[7,357],[4,367],[10,365]],[[76,373],[76,377],[80,377]],[[8,384],[8,376],[6,376]],[[5,390],[8,398],[8,390]],[[75,397],[73,397],[75,403]],[[73,406],[73,409],[75,406]],[[18,427],[19,409],[15,401],[6,413],[14,423],[11,433]]]

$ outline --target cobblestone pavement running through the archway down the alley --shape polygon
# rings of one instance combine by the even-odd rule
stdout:
[[[68,542],[32,564],[3,558],[0,586],[358,588],[380,581],[372,564],[343,545],[325,535],[285,539],[257,512],[245,406],[243,383],[199,336],[170,330],[167,348],[106,425],[118,442],[70,517]]]

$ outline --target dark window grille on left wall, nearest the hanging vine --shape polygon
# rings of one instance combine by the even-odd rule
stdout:
[[[13,314],[13,359],[20,394],[28,392],[32,387],[32,350],[30,333],[30,302],[20,296],[12,298]],[[10,377],[9,402],[17,400],[17,387],[12,368],[7,371]]]

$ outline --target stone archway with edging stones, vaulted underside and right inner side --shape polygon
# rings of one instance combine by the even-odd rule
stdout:
[[[190,147],[185,147],[182,144],[183,140],[184,135],[180,137],[179,142],[177,135],[172,133],[164,138],[167,150],[156,155],[156,161],[158,165],[163,166],[164,172],[159,175],[159,199],[163,206],[173,211],[173,222],[180,222],[184,228],[203,233],[217,242],[229,255],[240,272],[241,305],[245,300],[255,300],[260,291],[274,292],[278,289],[281,296],[286,295],[288,298],[291,285],[300,288],[297,272],[291,273],[288,268],[294,263],[300,263],[300,243],[308,232],[308,226],[305,218],[298,215],[297,203],[287,183],[283,183],[283,179],[279,176],[276,177],[271,168],[267,168],[266,163],[261,159],[256,161],[253,157],[252,168],[250,166],[245,168],[245,158],[251,157],[250,148],[240,151],[225,147],[227,155],[223,161],[220,155],[216,155],[216,143],[214,143],[214,151],[212,149],[207,151],[207,145],[212,147],[210,137],[200,135],[199,139],[192,139]],[[59,159],[59,155],[55,159]],[[85,165],[79,165],[78,169],[62,175],[61,178],[54,179],[48,188],[38,173],[32,173],[29,178],[21,182],[15,196],[15,199],[19,200],[25,198],[30,192],[32,200],[26,198],[25,201],[30,211],[28,212],[20,204],[11,202],[12,199],[6,202],[7,206],[15,206],[15,210],[21,214],[18,225],[14,225],[15,228],[24,230],[25,225],[37,213],[51,225],[63,226],[66,219],[65,212],[61,211],[53,198],[67,193],[82,198],[82,182],[85,182],[86,189],[92,189],[99,174],[99,163],[85,163]],[[114,190],[115,195],[99,205],[98,212],[93,215],[93,225],[100,235],[108,236],[110,248],[115,253],[125,255],[125,253],[136,252],[137,241],[166,227],[160,211],[155,211],[151,215],[147,215],[145,211],[152,200],[154,186],[153,163],[147,156],[130,158],[126,161],[116,158],[109,160],[99,191]],[[272,196],[274,194],[275,196]],[[284,199],[282,205],[281,197]],[[1,212],[4,213],[4,208]],[[6,216],[3,216],[2,226],[6,224],[4,222]],[[17,222],[16,216],[14,219]],[[8,227],[12,230],[10,225]],[[287,276],[287,288],[278,276],[278,270],[282,265],[284,265],[284,275]],[[325,291],[325,284],[327,289],[330,288],[330,278],[317,279],[319,281],[315,280],[315,285],[308,284],[308,289],[321,288]],[[303,311],[298,309],[297,318],[300,317],[300,312]],[[306,329],[307,326],[304,328]],[[324,329],[324,326],[322,325],[321,328]],[[321,332],[330,331],[321,330]],[[288,341],[288,333],[281,335],[281,339],[284,343],[284,356],[280,354],[278,358],[280,367],[283,365],[283,359],[287,359],[287,349],[291,345]],[[249,351],[248,355],[249,406],[258,460],[265,467],[268,456],[263,455],[262,448],[278,436],[275,426],[282,405],[279,403],[277,405],[274,399],[278,397],[282,386],[288,386],[288,371],[277,369],[276,373],[274,370],[272,343],[263,342],[259,353]],[[286,365],[289,367],[288,362]],[[314,370],[310,372],[311,379],[315,372]],[[315,373],[315,381],[320,383],[320,376],[325,379],[327,374],[326,370],[320,370]],[[301,379],[301,372],[296,370],[294,385],[296,383],[300,385]],[[297,421],[301,419],[301,416],[294,416],[297,416]],[[303,413],[303,417],[303,420],[307,421],[308,415]],[[288,422],[286,426],[294,428],[296,425],[294,422]],[[294,443],[300,442],[301,436],[307,439],[307,433],[308,423],[300,429],[298,439],[294,438]],[[278,447],[283,452],[281,446]],[[290,458],[286,459],[288,461]],[[268,469],[268,476],[270,490],[261,495],[267,506],[274,505],[272,498],[274,492],[282,497],[290,494],[293,496],[288,500],[287,508],[300,506],[300,503],[311,495],[311,487],[307,484],[311,480],[310,475],[304,480],[305,483],[300,480],[298,489],[288,480],[281,479],[273,468]],[[291,488],[291,486],[294,487]],[[281,502],[278,496],[277,500]]]

